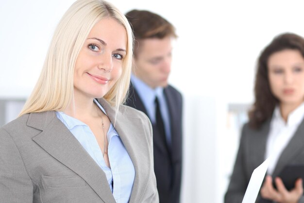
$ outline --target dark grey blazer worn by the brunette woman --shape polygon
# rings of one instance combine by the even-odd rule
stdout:
[[[225,203],[241,203],[253,170],[265,160],[267,137],[270,130],[270,119],[259,129],[253,130],[245,124],[242,130],[236,163],[225,195]],[[304,165],[304,120],[283,150],[273,171],[276,177],[287,165]],[[256,202],[265,201],[260,196]],[[304,203],[304,196],[299,203]]]

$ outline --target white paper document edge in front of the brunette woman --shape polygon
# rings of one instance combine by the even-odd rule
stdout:
[[[256,169],[253,170],[242,203],[255,203],[257,194],[260,191],[262,182],[264,180],[268,168],[268,163],[269,163],[269,158],[266,159],[260,166],[258,166]]]

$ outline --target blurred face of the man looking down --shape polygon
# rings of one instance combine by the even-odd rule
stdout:
[[[168,85],[171,69],[171,37],[139,40],[133,72],[152,88]]]

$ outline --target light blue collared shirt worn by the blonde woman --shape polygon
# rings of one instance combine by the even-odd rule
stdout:
[[[99,106],[103,113],[106,114],[100,103],[97,100],[94,100],[94,102]],[[105,172],[115,201],[117,203],[128,203],[134,184],[135,169],[129,154],[112,123],[107,132],[109,143],[108,156],[111,166],[111,168],[109,168],[104,162],[101,149],[89,126],[63,112],[56,112],[56,115],[80,142],[85,151],[90,154],[98,166]],[[112,181],[114,188],[112,187]]]

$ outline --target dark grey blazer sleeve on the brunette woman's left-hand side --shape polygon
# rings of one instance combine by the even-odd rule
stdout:
[[[246,139],[246,125],[244,125],[241,134],[241,140],[236,156],[236,162],[233,173],[230,178],[230,183],[225,194],[225,203],[241,203],[248,186],[246,178],[246,163],[245,163],[245,139]]]

